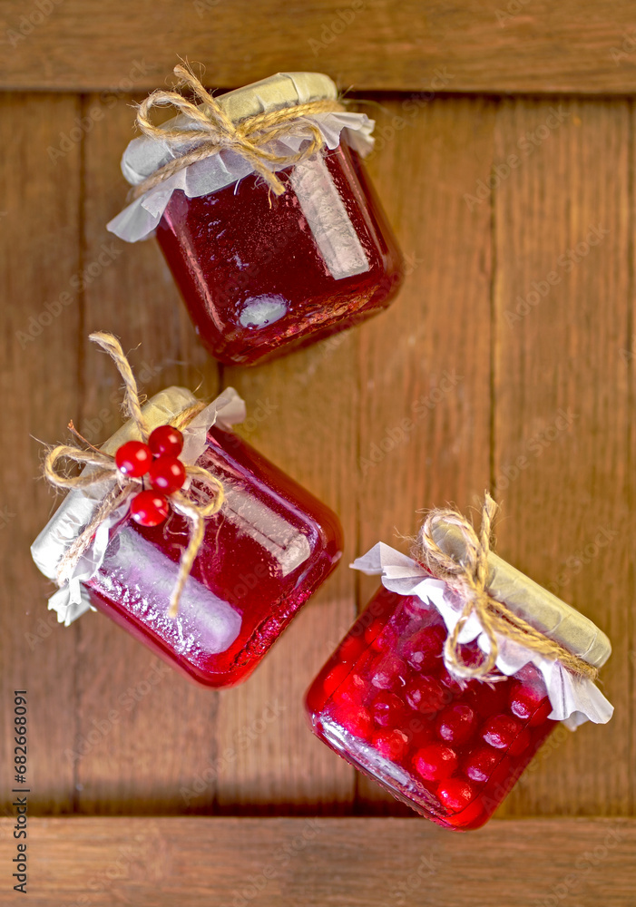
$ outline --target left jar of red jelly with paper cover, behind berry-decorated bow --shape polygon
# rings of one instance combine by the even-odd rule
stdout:
[[[170,387],[142,412],[152,428],[171,424],[195,403],[189,391]],[[220,479],[223,502],[205,521],[176,617],[169,603],[191,527],[178,512],[161,525],[139,525],[129,502],[95,533],[73,576],[54,593],[49,608],[58,620],[68,624],[100,610],[204,686],[230,687],[248,677],[336,568],[342,531],[328,507],[231,431],[243,417],[230,388],[182,429],[184,452],[194,451],[192,462]],[[101,450],[114,454],[135,438],[129,422]],[[64,554],[109,490],[107,484],[73,490],[34,541],[34,561],[49,579],[59,583]]]

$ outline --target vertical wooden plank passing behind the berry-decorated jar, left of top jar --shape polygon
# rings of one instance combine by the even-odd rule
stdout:
[[[121,423],[121,379],[89,344],[92,330],[121,337],[147,395],[176,384],[210,396],[219,386],[218,366],[197,343],[154,240],[130,245],[105,229],[125,200],[119,160],[131,134],[130,102],[88,96],[82,110],[94,122],[84,137],[83,268],[94,277],[84,289],[81,420],[93,441]],[[84,616],[80,629],[79,810],[181,813],[210,805],[213,780],[194,805],[188,792],[216,757],[218,694],[166,669],[101,614]]]

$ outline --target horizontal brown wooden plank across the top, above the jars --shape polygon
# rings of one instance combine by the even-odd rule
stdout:
[[[151,89],[181,54],[216,86],[318,69],[362,91],[623,94],[635,26],[630,0],[2,0],[0,84]]]

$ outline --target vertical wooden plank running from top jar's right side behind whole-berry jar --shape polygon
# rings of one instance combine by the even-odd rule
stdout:
[[[465,510],[483,495],[490,462],[490,210],[464,197],[490,171],[495,105],[385,108],[380,129],[398,115],[406,127],[370,166],[406,279],[395,305],[360,330],[358,553],[377,541],[408,551],[400,533],[416,535],[421,510],[446,502]],[[358,582],[364,605],[377,580]],[[362,777],[359,793],[379,795]]]

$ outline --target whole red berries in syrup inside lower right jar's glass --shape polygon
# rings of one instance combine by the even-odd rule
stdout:
[[[314,733],[417,813],[479,828],[558,724],[528,665],[488,685],[451,678],[433,606],[382,588],[308,689]],[[475,644],[465,660],[479,658]]]

